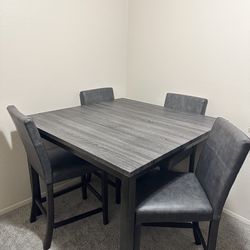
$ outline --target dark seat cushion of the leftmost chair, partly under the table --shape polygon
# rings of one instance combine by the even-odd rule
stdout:
[[[89,163],[60,147],[49,149],[48,156],[53,171],[53,182],[82,176],[85,172],[91,172]]]

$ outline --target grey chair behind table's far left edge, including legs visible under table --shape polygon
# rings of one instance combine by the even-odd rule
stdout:
[[[97,104],[100,102],[111,102],[114,101],[114,91],[113,88],[98,88],[84,90],[80,92],[80,101],[81,105],[91,105]],[[95,175],[100,176],[99,172],[94,172]],[[88,174],[87,180],[91,180],[91,174]],[[115,180],[108,179],[108,183],[115,188],[116,193],[116,203],[120,204],[121,202],[121,181],[119,178]]]

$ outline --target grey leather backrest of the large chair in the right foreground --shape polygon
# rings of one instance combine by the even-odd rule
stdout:
[[[219,219],[228,193],[249,152],[250,139],[223,118],[217,118],[204,145],[196,176]]]

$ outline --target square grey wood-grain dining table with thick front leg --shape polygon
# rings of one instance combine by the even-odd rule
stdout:
[[[121,179],[121,250],[134,248],[136,179],[204,141],[215,120],[125,98],[31,116],[42,137]]]

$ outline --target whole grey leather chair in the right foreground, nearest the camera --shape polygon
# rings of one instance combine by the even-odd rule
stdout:
[[[223,118],[218,118],[200,155],[195,173],[159,171],[138,180],[136,247],[141,226],[193,228],[196,244],[216,249],[222,209],[249,152],[250,140]],[[199,221],[210,221],[207,244]]]

